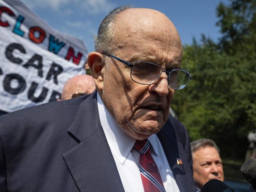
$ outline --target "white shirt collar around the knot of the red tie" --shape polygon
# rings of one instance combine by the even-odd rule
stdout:
[[[120,163],[123,164],[131,152],[131,149],[133,149],[136,139],[126,134],[123,129],[119,127],[114,117],[108,112],[99,93],[97,93],[97,105],[101,126],[107,138],[110,150]],[[148,140],[152,146],[151,149],[153,148],[152,152],[155,153],[155,155],[158,155],[157,141],[155,137],[157,137],[155,134],[151,135]]]

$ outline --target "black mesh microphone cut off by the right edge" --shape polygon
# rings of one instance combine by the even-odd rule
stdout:
[[[252,185],[256,190],[256,159],[247,160],[242,166],[240,171],[242,172],[245,180]]]

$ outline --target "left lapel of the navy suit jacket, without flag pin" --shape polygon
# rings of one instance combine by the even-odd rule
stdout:
[[[78,144],[63,154],[80,192],[124,191],[114,158],[100,124],[96,93],[79,106],[69,127]]]

